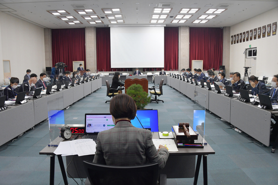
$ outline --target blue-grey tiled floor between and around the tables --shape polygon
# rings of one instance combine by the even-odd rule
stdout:
[[[152,84],[150,84],[152,85]],[[106,87],[83,98],[65,110],[66,123],[84,123],[85,113],[109,113]],[[169,86],[163,86],[164,103],[151,103],[157,109],[159,130],[170,131],[179,122],[193,122],[194,102]],[[77,118],[77,119],[76,119]],[[206,112],[206,140],[215,151],[208,156],[209,185],[275,185],[278,183],[278,154],[271,147],[254,144],[246,134]],[[41,123],[13,142],[0,146],[0,185],[48,185],[50,158],[39,155],[49,142],[48,122]],[[203,184],[203,168],[198,184]],[[79,185],[81,181],[75,179]],[[70,185],[76,184],[69,178]],[[168,185],[192,185],[193,179],[168,179]],[[63,185],[56,159],[55,185]]]

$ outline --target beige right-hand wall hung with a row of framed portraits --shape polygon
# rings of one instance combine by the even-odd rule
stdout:
[[[278,7],[256,17],[231,26],[231,35],[262,27],[278,21]],[[244,74],[245,49],[257,47],[257,76],[278,74],[278,35],[230,45],[230,70]]]

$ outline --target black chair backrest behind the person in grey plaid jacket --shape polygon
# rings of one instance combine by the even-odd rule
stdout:
[[[83,161],[91,185],[156,185],[158,164],[108,166]]]

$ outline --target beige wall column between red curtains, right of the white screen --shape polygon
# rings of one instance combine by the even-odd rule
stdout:
[[[179,71],[189,67],[189,26],[179,27]]]

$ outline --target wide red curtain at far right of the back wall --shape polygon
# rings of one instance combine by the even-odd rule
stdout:
[[[223,29],[190,28],[189,66],[192,60],[203,60],[203,69],[219,69],[223,56]]]

